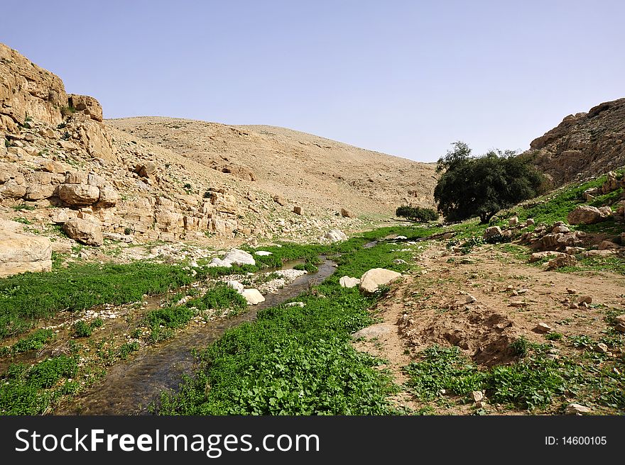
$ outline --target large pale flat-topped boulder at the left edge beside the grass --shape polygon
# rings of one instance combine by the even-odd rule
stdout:
[[[52,243],[47,237],[13,232],[0,223],[0,278],[52,270]]]

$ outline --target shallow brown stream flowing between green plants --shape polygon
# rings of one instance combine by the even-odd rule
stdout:
[[[263,308],[277,306],[319,284],[335,271],[335,262],[323,258],[316,273],[298,277],[265,301],[231,318],[220,318],[200,327],[188,327],[172,340],[147,347],[128,362],[116,364],[96,386],[72,400],[72,405],[60,409],[60,415],[145,415],[148,405],[158,400],[159,393],[175,390],[183,374],[195,366],[191,350],[202,348],[219,339],[225,330],[252,321]],[[297,262],[287,264],[293,267]],[[284,268],[286,268],[284,267]],[[283,269],[284,269],[283,268]]]

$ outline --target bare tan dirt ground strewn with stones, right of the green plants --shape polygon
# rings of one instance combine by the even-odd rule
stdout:
[[[578,350],[565,343],[570,337],[600,340],[607,329],[607,312],[625,313],[625,276],[545,271],[521,262],[501,245],[483,245],[460,255],[433,241],[416,263],[423,271],[393,286],[376,308],[383,323],[366,328],[364,332],[373,330],[372,334],[355,343],[388,359],[387,367],[400,385],[406,381],[402,367],[431,344],[460,347],[482,366],[510,362],[514,357],[509,345],[521,336],[551,342],[564,356]],[[585,297],[592,303],[579,305]],[[561,339],[546,340],[537,329],[539,323]],[[395,400],[410,408],[420,405],[407,392]],[[464,409],[442,408],[438,413]]]

